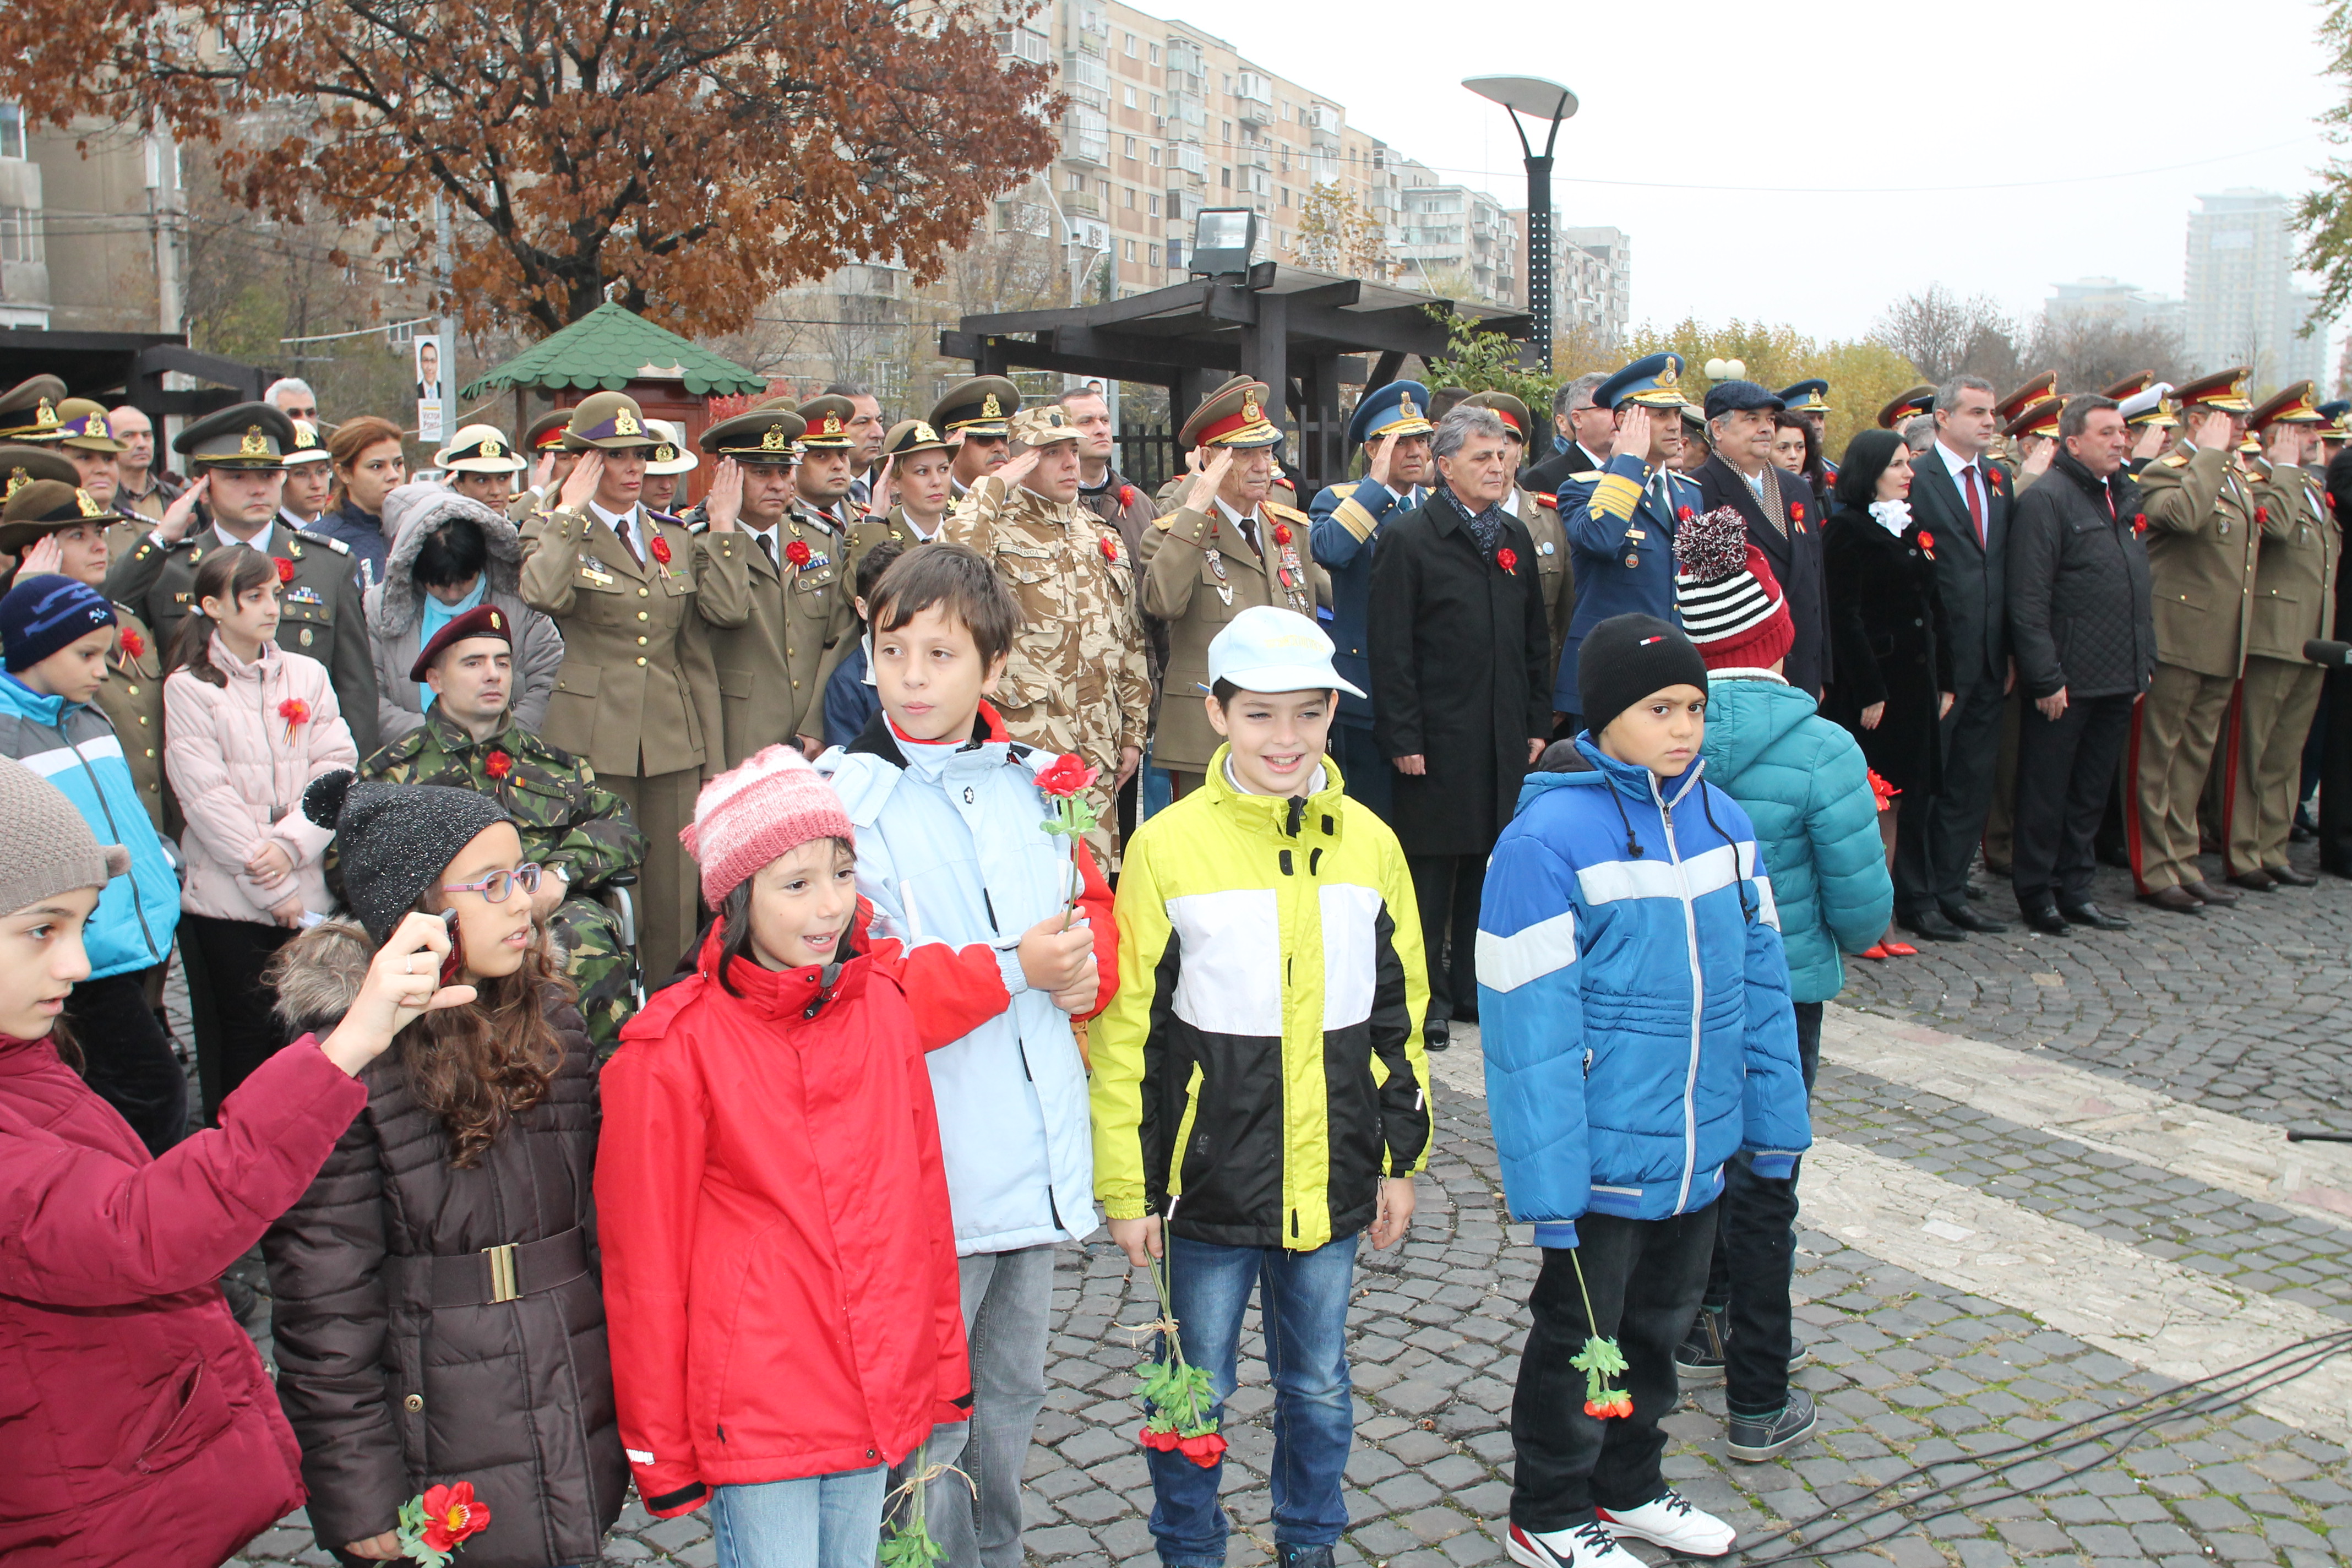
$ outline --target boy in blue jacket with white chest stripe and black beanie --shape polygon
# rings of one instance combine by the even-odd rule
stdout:
[[[1722,1556],[1733,1530],[1661,1472],[1675,1345],[1698,1312],[1724,1164],[1811,1145],[1773,891],[1748,813],[1700,778],[1708,668],[1651,616],[1578,661],[1585,733],[1531,773],[1479,912],[1486,1107],[1543,1272],[1512,1401],[1508,1552],[1632,1568],[1618,1537]],[[1569,748],[1555,748],[1569,750]],[[1630,1410],[1588,1413],[1588,1338]]]

